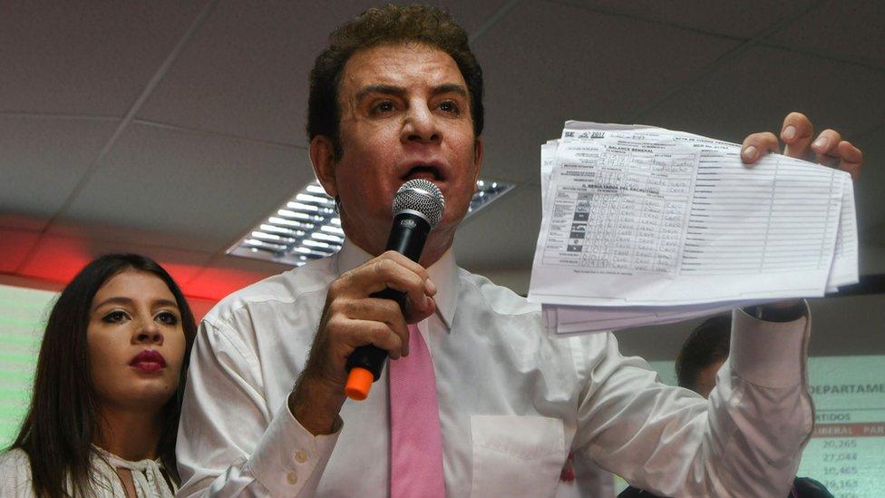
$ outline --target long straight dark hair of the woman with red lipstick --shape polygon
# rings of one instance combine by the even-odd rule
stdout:
[[[93,260],[71,280],[55,302],[40,347],[34,375],[34,396],[22,428],[9,449],[21,448],[30,459],[34,493],[51,498],[92,496],[92,441],[99,424],[95,389],[89,369],[89,325],[92,298],[104,282],[127,269],[157,276],[175,297],[187,340],[178,391],[163,406],[163,432],[158,454],[170,478],[179,481],[175,467],[181,398],[190,349],[197,325],[178,284],[155,261],[137,254],[109,254]]]

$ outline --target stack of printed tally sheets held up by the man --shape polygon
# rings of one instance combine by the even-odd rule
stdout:
[[[550,331],[677,321],[858,281],[851,176],[640,125],[566,122],[541,146],[529,299]]]

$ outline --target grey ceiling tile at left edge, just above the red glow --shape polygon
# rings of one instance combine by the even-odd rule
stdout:
[[[116,126],[0,115],[0,212],[53,217]]]

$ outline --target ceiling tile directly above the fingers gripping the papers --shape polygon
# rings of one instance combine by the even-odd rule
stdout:
[[[885,74],[819,57],[757,46],[707,75],[639,121],[741,142],[779,130],[790,111],[849,136],[885,115]]]

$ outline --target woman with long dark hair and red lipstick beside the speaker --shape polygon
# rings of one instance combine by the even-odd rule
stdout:
[[[172,496],[196,325],[151,259],[92,261],[46,324],[34,398],[0,455],[0,496]]]

